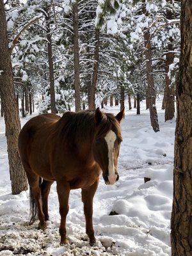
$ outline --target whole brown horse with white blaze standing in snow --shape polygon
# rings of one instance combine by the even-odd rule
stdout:
[[[38,214],[38,228],[46,228],[48,195],[56,181],[61,244],[67,243],[65,224],[70,189],[78,188],[82,189],[86,234],[90,244],[95,243],[93,196],[101,172],[106,184],[118,180],[116,166],[123,116],[124,109],[113,116],[99,108],[95,112],[67,112],[62,117],[45,114],[31,118],[20,131],[19,152],[31,192],[31,223]]]

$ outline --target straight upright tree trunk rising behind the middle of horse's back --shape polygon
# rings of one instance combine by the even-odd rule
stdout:
[[[76,112],[81,110],[80,95],[80,65],[79,65],[79,19],[77,0],[73,5],[73,28],[74,28],[74,88]]]

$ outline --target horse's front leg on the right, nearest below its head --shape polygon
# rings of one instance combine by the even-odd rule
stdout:
[[[95,183],[89,188],[82,189],[82,201],[84,204],[84,215],[86,220],[86,234],[90,239],[90,245],[93,246],[95,243],[95,236],[93,230],[93,196],[95,195],[95,191],[97,190],[97,186],[99,184],[99,179],[95,181]]]

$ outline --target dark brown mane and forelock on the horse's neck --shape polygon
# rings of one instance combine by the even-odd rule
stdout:
[[[102,113],[102,120],[97,125],[95,111],[81,111],[64,113],[58,121],[57,132],[60,132],[64,141],[81,143],[84,140],[92,140],[94,136],[105,136],[111,129],[120,136],[120,125],[113,114]]]

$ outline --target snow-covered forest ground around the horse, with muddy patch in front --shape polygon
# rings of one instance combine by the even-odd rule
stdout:
[[[94,198],[93,223],[97,243],[90,247],[85,234],[81,190],[70,193],[67,234],[70,244],[60,246],[60,214],[56,184],[49,196],[47,230],[28,225],[29,191],[11,195],[4,136],[0,118],[0,255],[170,255],[170,215],[175,120],[164,122],[157,101],[160,132],[150,127],[145,101],[141,115],[126,109],[119,157],[120,180],[106,186],[102,177]],[[118,113],[118,108],[105,111]],[[28,120],[21,120],[22,125]],[[150,177],[147,183],[143,177]],[[112,212],[115,215],[109,215]]]

